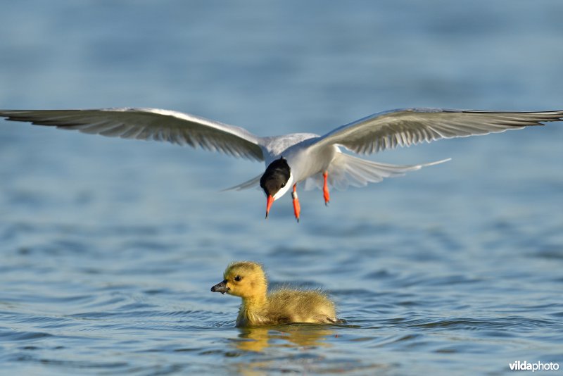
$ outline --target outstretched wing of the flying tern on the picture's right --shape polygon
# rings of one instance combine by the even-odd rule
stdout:
[[[436,139],[504,132],[563,120],[563,111],[497,112],[406,108],[370,115],[320,137],[311,147],[333,144],[356,153],[377,153]]]

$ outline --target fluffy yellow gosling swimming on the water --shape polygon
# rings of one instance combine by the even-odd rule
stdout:
[[[334,303],[322,292],[279,289],[267,294],[266,275],[258,263],[232,263],[223,277],[224,280],[211,287],[211,291],[242,298],[237,327],[339,322]]]

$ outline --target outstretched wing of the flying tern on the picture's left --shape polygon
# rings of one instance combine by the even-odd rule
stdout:
[[[189,144],[236,157],[264,160],[260,137],[248,130],[177,111],[157,108],[0,110],[0,117],[109,137]]]

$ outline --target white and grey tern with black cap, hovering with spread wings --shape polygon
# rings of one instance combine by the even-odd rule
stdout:
[[[263,161],[264,173],[228,189],[246,189],[260,184],[266,195],[266,218],[272,203],[292,189],[293,211],[299,221],[301,206],[297,184],[301,182],[305,183],[305,189],[322,188],[326,205],[330,201],[329,185],[337,189],[346,189],[348,185],[362,187],[369,182],[380,182],[384,177],[449,161],[390,165],[343,153],[343,149],[371,154],[436,139],[504,132],[563,120],[563,111],[403,108],[369,115],[324,135],[293,133],[273,137],[258,137],[241,127],[157,108],[0,110],[0,117],[109,137],[188,144]]]

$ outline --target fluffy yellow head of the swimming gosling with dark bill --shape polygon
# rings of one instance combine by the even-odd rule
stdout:
[[[240,296],[243,299],[265,295],[267,280],[262,266],[252,261],[237,261],[227,266],[224,280],[211,287],[212,292]]]

